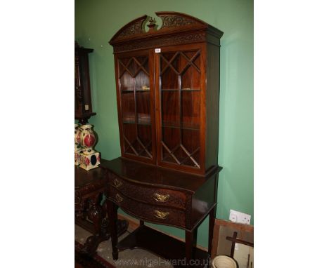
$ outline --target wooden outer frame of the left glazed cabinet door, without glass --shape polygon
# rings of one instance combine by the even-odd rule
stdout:
[[[124,152],[124,122],[123,122],[123,112],[122,112],[122,96],[120,92],[120,58],[133,58],[138,56],[148,56],[148,69],[149,69],[149,81],[150,81],[150,128],[152,133],[152,158],[147,158],[145,156],[137,156],[134,154],[127,154]],[[119,121],[119,131],[120,131],[120,148],[121,155],[127,159],[133,159],[137,161],[142,161],[144,163],[156,163],[157,159],[157,148],[156,148],[156,131],[155,131],[155,88],[154,88],[154,54],[150,49],[145,49],[141,51],[131,51],[123,53],[115,53],[115,83],[117,91],[117,116]],[[134,93],[136,94],[136,93]],[[136,103],[136,99],[135,99]],[[135,121],[135,126],[136,126]]]

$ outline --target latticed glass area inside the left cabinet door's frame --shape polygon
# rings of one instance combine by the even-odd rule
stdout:
[[[148,57],[118,60],[124,153],[152,158]]]

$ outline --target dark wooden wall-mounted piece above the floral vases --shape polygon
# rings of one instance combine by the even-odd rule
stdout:
[[[83,48],[75,42],[75,119],[86,123],[95,115],[91,105],[91,88],[89,79],[89,53],[91,48]]]

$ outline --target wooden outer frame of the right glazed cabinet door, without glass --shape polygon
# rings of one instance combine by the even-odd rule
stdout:
[[[205,173],[205,124],[206,124],[206,45],[205,43],[193,43],[179,46],[165,46],[160,47],[161,52],[174,52],[174,51],[190,51],[200,50],[200,168],[194,168],[192,166],[183,166],[178,163],[169,163],[162,161],[162,117],[161,117],[161,93],[160,93],[160,53],[154,53],[154,67],[155,67],[155,117],[157,121],[156,125],[156,137],[157,137],[157,166],[164,168],[174,168],[184,172],[204,174]]]

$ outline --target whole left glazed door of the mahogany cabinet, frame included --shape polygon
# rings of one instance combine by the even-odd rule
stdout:
[[[155,163],[154,67],[152,51],[115,55],[122,156]]]

